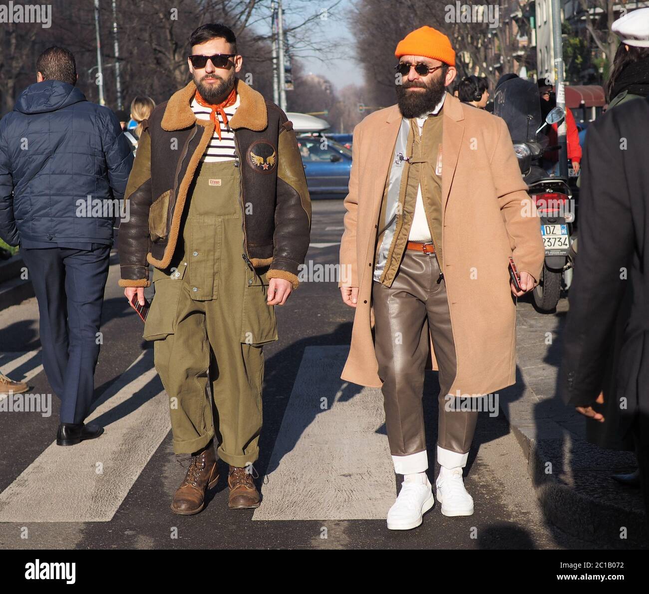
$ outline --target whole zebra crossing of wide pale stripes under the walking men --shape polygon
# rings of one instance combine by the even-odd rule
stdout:
[[[254,520],[378,519],[393,503],[382,396],[339,379],[347,349],[304,351]],[[32,379],[42,372],[40,350],[0,353],[0,368]],[[75,447],[51,442],[0,492],[0,523],[110,522],[171,429],[153,350],[99,396],[88,421],[103,436]]]

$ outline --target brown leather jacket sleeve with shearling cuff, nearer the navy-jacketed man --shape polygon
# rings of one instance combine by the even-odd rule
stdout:
[[[151,189],[151,136],[143,122],[138,152],[124,195],[125,216],[119,224],[117,252],[121,268],[120,287],[149,287],[149,210]]]

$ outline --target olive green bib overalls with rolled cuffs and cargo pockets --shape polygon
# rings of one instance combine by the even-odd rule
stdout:
[[[275,308],[266,303],[265,274],[251,270],[242,256],[235,163],[199,165],[171,265],[154,269],[143,338],[155,341],[175,453],[194,453],[216,435],[219,457],[244,467],[258,457],[262,344],[277,340],[277,325]]]

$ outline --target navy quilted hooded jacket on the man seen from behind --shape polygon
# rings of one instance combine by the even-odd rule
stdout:
[[[110,109],[60,80],[30,85],[0,121],[0,237],[111,243],[132,163]]]

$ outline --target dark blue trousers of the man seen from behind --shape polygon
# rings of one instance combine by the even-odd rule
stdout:
[[[43,368],[61,399],[60,421],[82,423],[95,390],[110,246],[21,248],[40,313]]]

